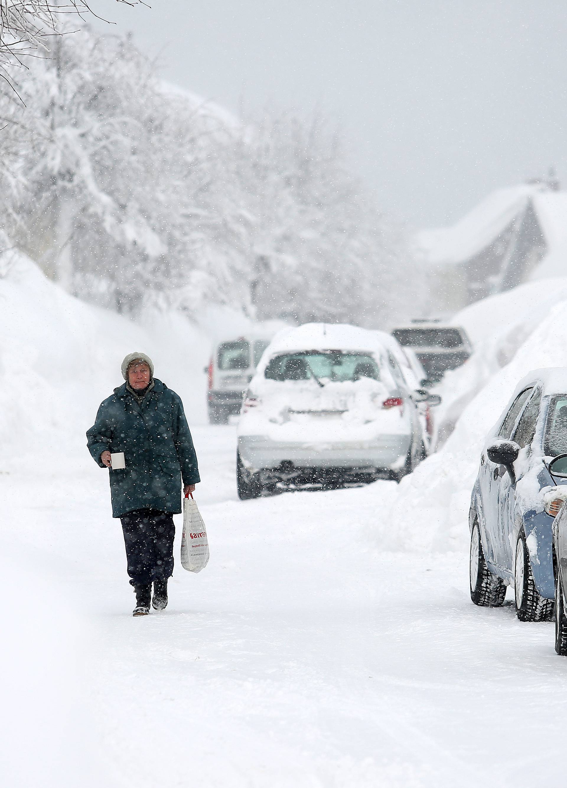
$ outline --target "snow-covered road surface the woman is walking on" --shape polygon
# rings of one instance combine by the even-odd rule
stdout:
[[[4,577],[26,591],[6,631],[13,707],[23,693],[28,710],[4,738],[10,788],[78,773],[124,788],[561,784],[553,624],[475,608],[467,556],[381,552],[393,482],[239,502],[234,428],[193,432],[211,560],[196,576],[177,562],[169,608],[146,619],[86,448],[71,471],[0,474]],[[43,674],[26,689],[30,648]],[[42,715],[49,770],[33,748],[20,758]]]

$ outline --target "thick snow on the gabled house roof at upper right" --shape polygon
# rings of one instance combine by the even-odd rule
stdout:
[[[458,265],[480,254],[513,218],[531,203],[542,229],[546,255],[531,278],[565,275],[567,271],[567,192],[541,184],[498,189],[451,227],[417,233],[417,255],[430,265]]]

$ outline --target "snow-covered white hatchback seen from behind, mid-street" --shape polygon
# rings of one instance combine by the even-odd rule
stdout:
[[[376,332],[310,323],[277,334],[238,427],[241,499],[402,478],[424,457],[415,392]]]

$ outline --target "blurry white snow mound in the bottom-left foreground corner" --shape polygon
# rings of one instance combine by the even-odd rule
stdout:
[[[22,567],[10,536],[5,533],[0,556],[2,785],[117,786],[103,752],[100,721],[91,713],[95,638],[69,607],[64,589],[53,578],[46,582],[45,563],[30,555],[33,548]]]

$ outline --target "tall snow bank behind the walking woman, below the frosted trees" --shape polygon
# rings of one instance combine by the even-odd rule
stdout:
[[[209,333],[250,321],[211,310],[204,327],[181,314],[148,311],[142,321],[83,303],[25,255],[0,257],[0,470],[32,457],[65,463],[85,452],[84,433],[98,405],[124,381],[120,362],[144,351],[155,374],[180,394],[191,424],[206,421]],[[49,459],[48,459],[49,458]]]

